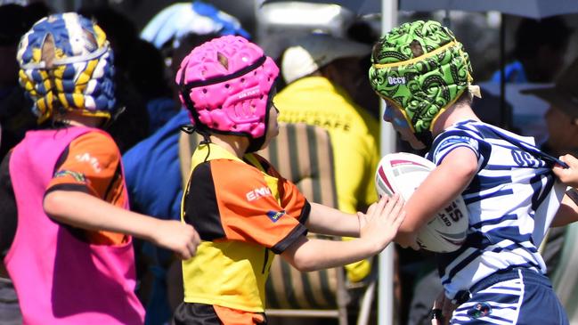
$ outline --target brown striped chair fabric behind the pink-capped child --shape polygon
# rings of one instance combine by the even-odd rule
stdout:
[[[327,131],[317,126],[283,123],[279,129],[279,135],[258,153],[269,160],[283,177],[297,184],[307,199],[337,207],[333,154]],[[189,175],[191,154],[200,140],[199,134],[181,134],[179,157],[182,175]],[[338,294],[338,289],[344,292]],[[341,297],[340,300],[337,297]],[[333,316],[346,318],[344,297],[343,269],[298,272],[281,257],[274,259],[266,285],[267,314],[274,315],[274,309],[335,311],[339,306],[341,310],[334,312]]]

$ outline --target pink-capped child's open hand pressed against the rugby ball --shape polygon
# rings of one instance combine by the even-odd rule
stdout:
[[[386,248],[395,238],[397,229],[405,217],[405,212],[402,211],[403,204],[404,201],[399,194],[391,198],[384,195],[377,203],[370,205],[367,214],[358,212],[362,226],[360,237],[376,242],[379,251]]]

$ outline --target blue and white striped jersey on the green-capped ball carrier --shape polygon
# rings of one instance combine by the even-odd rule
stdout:
[[[469,214],[466,243],[438,255],[446,295],[453,298],[511,267],[546,272],[537,247],[566,189],[556,182],[551,161],[535,148],[533,138],[472,120],[439,134],[427,158],[439,165],[458,147],[476,153],[478,171],[462,193]]]

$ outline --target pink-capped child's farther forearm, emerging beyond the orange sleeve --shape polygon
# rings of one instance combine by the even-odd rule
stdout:
[[[359,237],[360,216],[347,214],[332,207],[311,203],[305,226],[310,232],[333,236]]]

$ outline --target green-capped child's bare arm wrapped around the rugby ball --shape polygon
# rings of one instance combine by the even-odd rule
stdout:
[[[468,187],[476,171],[477,158],[473,150],[458,147],[450,151],[408,199],[407,216],[395,241],[404,248],[416,248],[419,229]]]

